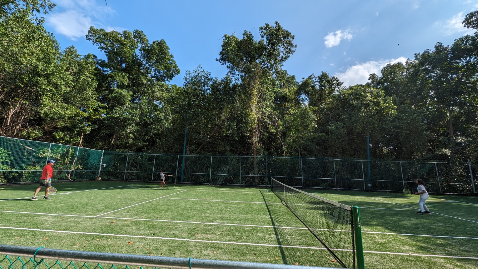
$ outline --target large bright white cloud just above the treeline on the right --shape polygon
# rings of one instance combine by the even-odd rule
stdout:
[[[345,86],[356,84],[365,84],[369,81],[370,74],[380,76],[381,69],[387,64],[405,63],[407,58],[400,57],[397,59],[368,61],[355,66],[348,67],[343,73],[336,73],[335,76],[344,83]]]

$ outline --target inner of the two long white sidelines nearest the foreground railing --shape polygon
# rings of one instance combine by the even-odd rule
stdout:
[[[283,229],[308,230],[307,228],[304,228],[304,227],[285,227],[285,226],[267,226],[267,225],[251,225],[251,224],[228,224],[228,223],[207,223],[207,222],[153,220],[153,219],[104,217],[104,216],[103,216],[103,217],[98,217],[98,216],[67,215],[67,214],[52,214],[52,213],[19,212],[19,211],[6,211],[6,210],[0,210],[0,212],[35,214],[35,215],[50,215],[50,216],[66,216],[66,217],[104,218],[104,219],[120,219],[120,220],[137,220],[137,221],[159,221],[159,222],[178,222],[178,223],[194,223],[194,224],[211,224],[211,225],[228,225],[228,226],[246,226],[246,227],[261,227],[261,228],[283,228]],[[312,229],[312,230],[334,231],[334,232],[348,232],[348,233],[350,232],[350,231],[346,231],[346,230],[331,230],[331,229]],[[445,235],[415,235],[415,234],[397,234],[397,233],[366,232],[366,231],[362,231],[362,233],[367,233],[367,234],[385,234],[385,235],[412,235],[412,236],[462,238],[462,239],[478,239],[478,237],[445,236]]]

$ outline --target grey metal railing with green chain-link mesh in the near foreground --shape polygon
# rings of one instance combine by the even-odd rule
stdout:
[[[0,269],[131,269],[130,266],[173,269],[325,269],[324,267],[282,265],[193,258],[58,250],[0,245]],[[119,267],[121,265],[121,267]],[[124,266],[124,267],[122,267]]]

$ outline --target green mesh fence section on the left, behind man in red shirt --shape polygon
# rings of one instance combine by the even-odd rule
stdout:
[[[0,183],[38,182],[53,159],[53,180],[86,180],[98,176],[101,150],[0,136]]]

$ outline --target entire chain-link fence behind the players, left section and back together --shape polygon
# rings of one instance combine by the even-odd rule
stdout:
[[[196,156],[104,152],[0,136],[0,183],[38,181],[48,158],[54,180],[102,179],[269,186],[274,177],[303,188],[367,191],[413,189],[424,179],[432,193],[476,193],[478,161],[385,161],[307,157]],[[184,158],[184,162],[183,162]],[[184,166],[183,166],[184,163]]]

